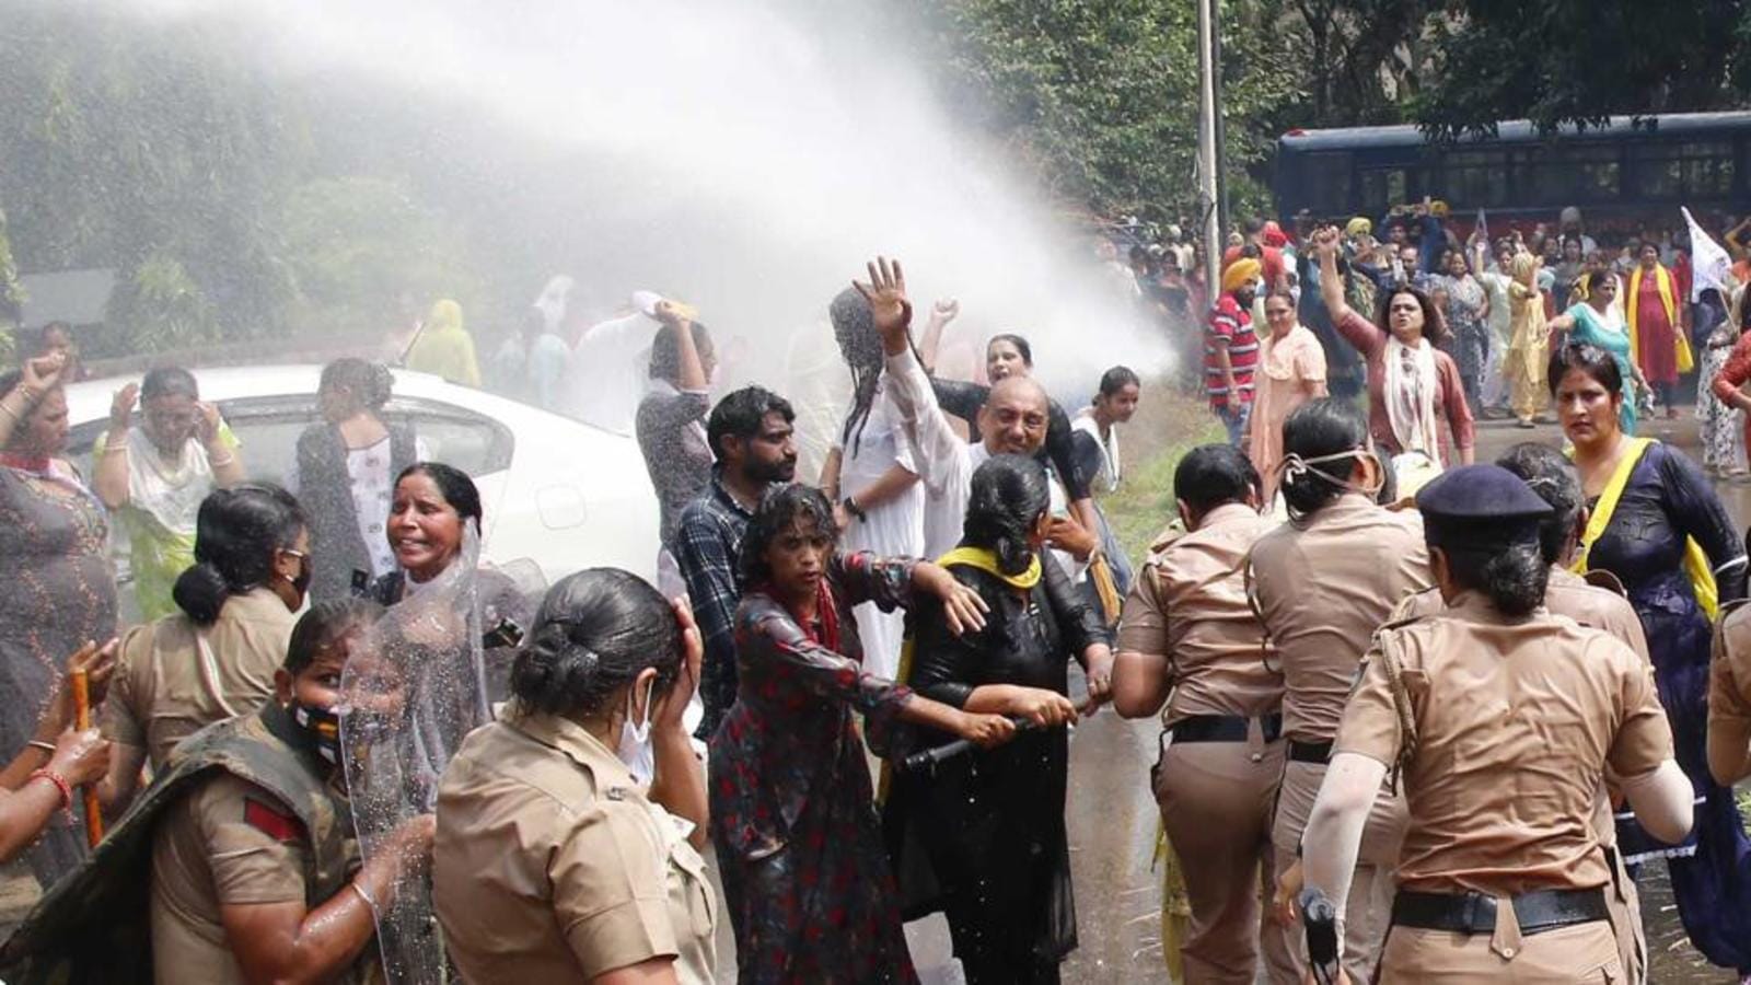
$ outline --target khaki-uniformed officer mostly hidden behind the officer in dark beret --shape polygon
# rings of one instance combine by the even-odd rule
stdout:
[[[1600,573],[1604,585],[1590,584],[1569,570],[1581,533],[1586,529],[1586,500],[1581,475],[1557,449],[1525,442],[1508,449],[1495,464],[1515,473],[1529,489],[1550,505],[1551,514],[1539,522],[1539,550],[1550,563],[1550,582],[1544,587],[1544,608],[1567,615],[1581,626],[1600,629],[1621,640],[1635,655],[1648,663],[1648,636],[1642,633],[1635,606],[1623,596],[1623,587],[1609,573]],[[1438,615],[1446,610],[1441,589],[1418,592],[1392,613],[1394,622]],[[1630,878],[1623,855],[1618,854],[1618,826],[1611,810],[1613,796],[1607,782],[1599,790],[1599,810],[1593,829],[1599,845],[1611,864],[1611,887],[1606,904],[1611,910],[1611,927],[1618,938],[1618,957],[1630,985],[1648,980],[1648,936],[1641,918],[1641,896]]]

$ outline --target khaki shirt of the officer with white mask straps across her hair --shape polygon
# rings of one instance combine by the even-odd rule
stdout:
[[[1252,594],[1282,661],[1285,736],[1331,741],[1375,629],[1431,584],[1422,514],[1359,492],[1259,538]]]

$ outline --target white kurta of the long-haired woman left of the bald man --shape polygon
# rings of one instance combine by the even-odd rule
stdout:
[[[912,447],[900,431],[900,415],[879,386],[861,433],[853,431],[844,443],[839,468],[840,496],[853,496],[870,487],[895,464],[918,475]],[[846,550],[874,550],[881,557],[925,556],[925,484],[914,484],[900,496],[865,510],[865,519],[853,521],[846,531]],[[932,556],[935,557],[935,556]],[[905,613],[883,612],[876,603],[851,610],[863,638],[863,666],[877,677],[891,678],[900,668],[900,638],[905,634]]]

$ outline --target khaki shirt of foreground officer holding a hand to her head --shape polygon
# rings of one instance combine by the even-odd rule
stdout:
[[[432,904],[462,978],[590,981],[674,957],[713,980],[716,903],[704,861],[583,726],[506,710],[438,787]]]

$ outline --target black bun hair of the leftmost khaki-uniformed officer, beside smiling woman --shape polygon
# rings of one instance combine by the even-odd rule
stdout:
[[[303,508],[278,485],[214,489],[194,515],[194,566],[170,598],[196,626],[212,626],[228,598],[268,584],[275,554],[303,529]]]

